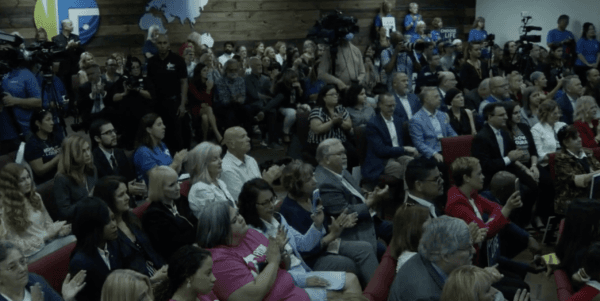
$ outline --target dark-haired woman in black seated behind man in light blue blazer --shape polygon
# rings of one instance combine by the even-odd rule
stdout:
[[[450,126],[452,126],[456,134],[459,136],[477,134],[473,112],[465,109],[465,98],[462,92],[456,88],[452,88],[446,92],[444,101],[450,107],[450,111],[448,112]]]

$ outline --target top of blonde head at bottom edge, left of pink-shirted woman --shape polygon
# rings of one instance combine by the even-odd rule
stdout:
[[[133,270],[114,270],[102,285],[101,301],[153,301],[148,276]]]

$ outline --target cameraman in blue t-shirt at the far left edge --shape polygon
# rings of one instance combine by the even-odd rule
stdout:
[[[29,69],[18,65],[17,48],[0,45],[0,57],[6,58],[11,70],[2,80],[0,102],[0,155],[16,151],[29,135],[33,109],[42,106],[40,86]],[[20,137],[20,135],[22,136]]]

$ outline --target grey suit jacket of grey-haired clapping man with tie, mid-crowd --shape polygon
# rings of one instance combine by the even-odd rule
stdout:
[[[361,192],[360,186],[347,170],[342,172],[342,176],[354,189],[359,193]],[[356,226],[344,229],[340,238],[348,241],[362,240],[369,242],[373,246],[373,251],[377,253],[377,236],[367,204],[346,189],[336,175],[321,165],[315,169],[315,178],[317,179],[317,188],[321,194],[323,207],[325,207],[326,219],[330,220],[330,216],[337,217],[346,208],[348,208],[348,213],[358,213]]]

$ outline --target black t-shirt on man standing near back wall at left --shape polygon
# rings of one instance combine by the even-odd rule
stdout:
[[[187,66],[182,57],[169,51],[164,60],[155,55],[148,60],[148,78],[156,89],[157,99],[165,100],[173,96],[180,99],[181,79],[187,78]]]

